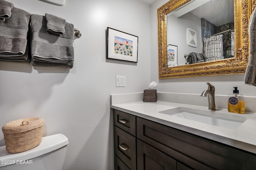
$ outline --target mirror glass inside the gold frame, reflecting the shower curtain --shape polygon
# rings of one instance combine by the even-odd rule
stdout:
[[[190,1],[166,16],[168,67],[235,56],[234,0]]]

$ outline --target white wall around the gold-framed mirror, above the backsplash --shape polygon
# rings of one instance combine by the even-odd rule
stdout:
[[[201,94],[208,88],[206,82],[210,82],[217,95],[233,93],[233,87],[237,86],[240,94],[256,96],[256,87],[244,84],[244,74],[158,79],[157,9],[166,2],[168,0],[157,0],[150,6],[151,80],[159,83],[156,89],[159,92]]]

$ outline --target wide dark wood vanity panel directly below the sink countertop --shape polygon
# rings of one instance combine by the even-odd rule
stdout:
[[[194,169],[254,170],[256,155],[137,117],[137,138]]]

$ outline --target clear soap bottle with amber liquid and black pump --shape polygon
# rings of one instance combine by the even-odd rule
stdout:
[[[237,87],[234,87],[233,94],[229,94],[228,111],[243,114],[245,112],[244,96],[239,94]]]

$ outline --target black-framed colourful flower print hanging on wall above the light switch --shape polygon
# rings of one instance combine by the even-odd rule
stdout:
[[[107,59],[138,62],[138,37],[107,27]]]

